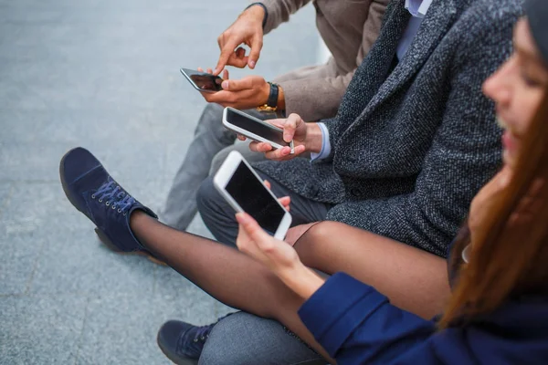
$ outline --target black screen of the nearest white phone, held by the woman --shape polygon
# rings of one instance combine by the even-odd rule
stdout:
[[[239,162],[225,189],[258,225],[272,235],[276,233],[286,210],[279,206],[246,163]]]

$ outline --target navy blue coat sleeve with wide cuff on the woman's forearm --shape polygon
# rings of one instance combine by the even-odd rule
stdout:
[[[373,287],[343,273],[330,277],[299,316],[339,364],[388,364],[436,330],[434,322],[392,306]]]

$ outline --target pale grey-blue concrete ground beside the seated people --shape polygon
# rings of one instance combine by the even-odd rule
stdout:
[[[228,308],[172,269],[115,255],[65,198],[58,162],[95,153],[158,209],[205,101],[179,68],[214,66],[224,0],[0,0],[0,363],[167,364],[170,318]],[[265,38],[266,78],[319,54],[314,9]],[[199,220],[192,231],[207,234]]]

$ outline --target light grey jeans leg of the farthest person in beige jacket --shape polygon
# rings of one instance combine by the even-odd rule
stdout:
[[[254,117],[266,119],[257,110],[245,111]],[[225,129],[222,118],[222,106],[214,103],[207,104],[198,120],[195,139],[190,144],[179,171],[175,174],[166,202],[158,214],[163,224],[180,231],[188,227],[197,212],[195,202],[200,183],[210,172],[215,173],[218,170],[230,151],[237,149],[248,162],[264,160],[262,153],[249,151],[248,142],[235,145],[236,134]],[[212,162],[214,162],[213,166]]]

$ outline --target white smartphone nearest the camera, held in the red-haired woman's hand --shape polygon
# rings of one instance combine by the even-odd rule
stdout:
[[[213,178],[216,190],[238,213],[246,212],[270,235],[282,240],[291,214],[238,151],[231,151]]]

